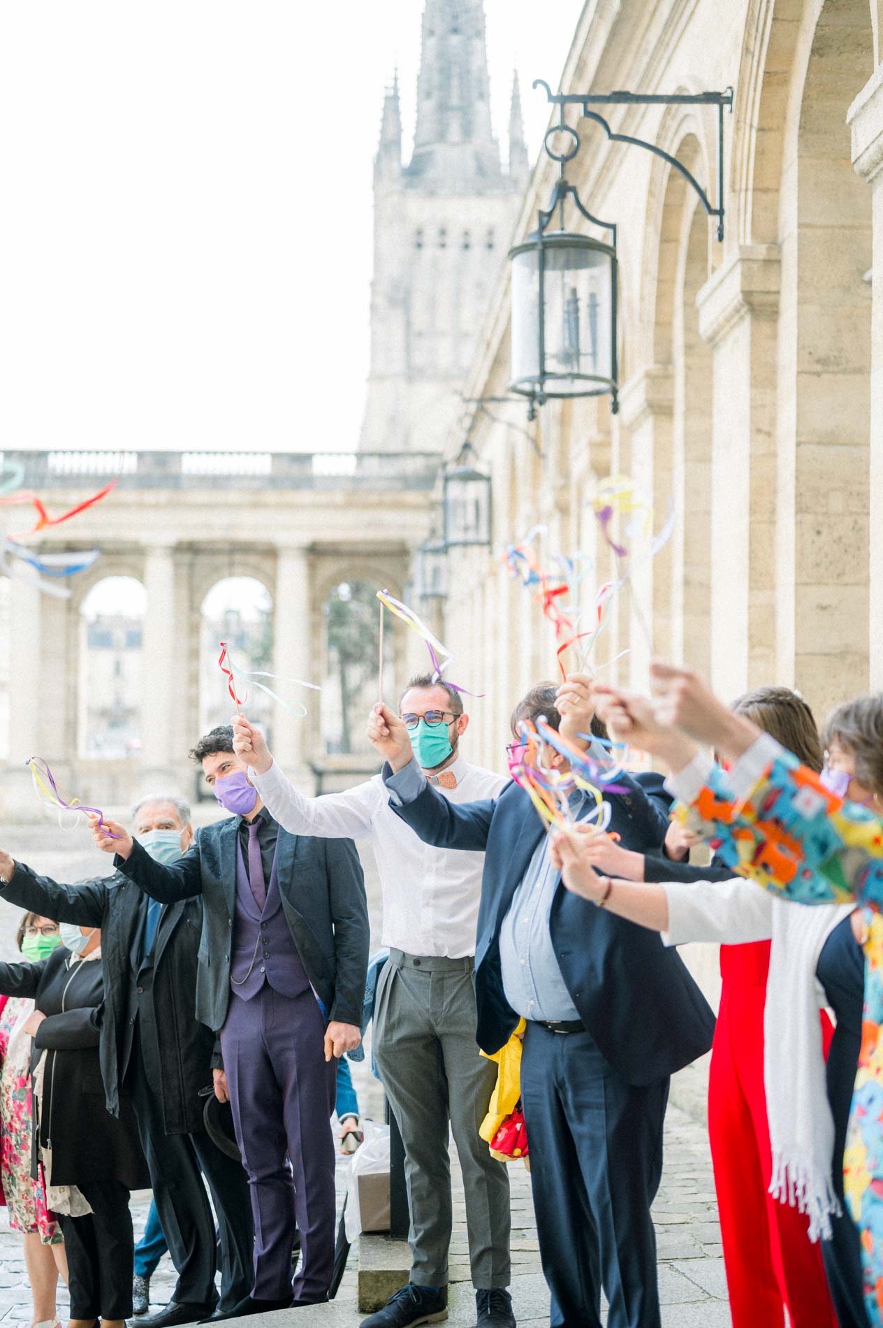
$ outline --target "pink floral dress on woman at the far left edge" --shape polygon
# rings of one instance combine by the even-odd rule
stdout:
[[[0,1182],[9,1211],[9,1226],[25,1234],[39,1232],[44,1244],[60,1244],[61,1227],[46,1208],[46,1194],[40,1179],[31,1177],[33,1145],[31,1077],[31,1038],[21,1025],[33,1011],[33,1001],[12,997],[0,1013]]]

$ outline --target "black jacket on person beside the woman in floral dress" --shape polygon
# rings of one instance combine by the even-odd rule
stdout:
[[[130,1190],[149,1186],[131,1105],[123,1097],[120,1117],[105,1105],[98,1062],[101,964],[74,960],[58,946],[39,964],[0,964],[0,993],[31,996],[46,1016],[33,1040],[31,1065],[46,1052],[35,1126],[41,1146],[52,1147],[52,1183],[113,1178]]]

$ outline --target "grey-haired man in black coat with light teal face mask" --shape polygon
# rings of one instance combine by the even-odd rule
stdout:
[[[175,795],[143,799],[133,822],[157,862],[177,862],[194,838],[190,809]],[[120,1098],[131,1098],[159,1222],[178,1271],[170,1304],[137,1321],[171,1328],[215,1308],[215,1220],[202,1174],[218,1212],[220,1305],[232,1308],[251,1287],[254,1232],[246,1173],[211,1142],[203,1126],[199,1093],[211,1085],[215,1038],[194,1013],[202,902],[159,904],[121,872],[60,886],[3,853],[0,880],[3,898],[46,919],[74,930],[101,927],[106,1004],[100,1057],[108,1110],[118,1114]]]

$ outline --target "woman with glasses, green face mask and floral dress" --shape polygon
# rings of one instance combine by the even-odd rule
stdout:
[[[16,944],[28,963],[48,957],[61,942],[58,923],[24,914]],[[33,1114],[29,1024],[33,1000],[0,996],[0,1183],[9,1226],[21,1231],[33,1299],[32,1328],[53,1328],[58,1274],[68,1280],[61,1227],[46,1206],[42,1173],[32,1177]]]

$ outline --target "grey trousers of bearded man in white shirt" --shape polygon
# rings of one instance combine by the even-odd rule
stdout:
[[[410,1280],[447,1284],[451,1235],[449,1139],[463,1175],[473,1284],[510,1282],[506,1163],[491,1158],[478,1127],[497,1082],[497,1065],[475,1044],[471,959],[390,951],[374,1005],[374,1058],[405,1145],[410,1204]]]

